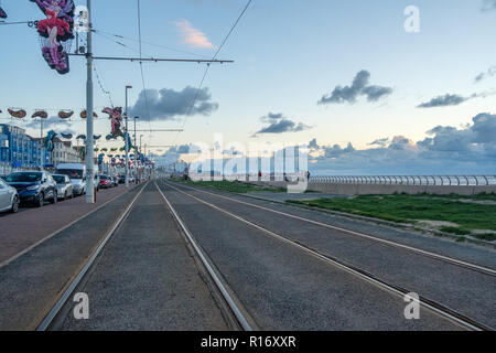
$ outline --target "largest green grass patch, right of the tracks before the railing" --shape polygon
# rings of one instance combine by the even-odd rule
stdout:
[[[494,194],[485,196],[493,197]],[[360,195],[292,201],[308,206],[341,211],[398,223],[416,223],[419,220],[456,223],[460,227],[450,233],[471,233],[471,229],[496,231],[496,205],[460,202],[456,195]],[[464,231],[468,232],[465,233]],[[459,233],[455,233],[459,232]]]

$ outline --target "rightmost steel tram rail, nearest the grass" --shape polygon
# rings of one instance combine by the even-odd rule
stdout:
[[[312,223],[314,225],[319,225],[319,226],[322,226],[322,227],[326,227],[326,228],[331,228],[331,229],[339,231],[339,232],[345,232],[345,233],[348,233],[348,234],[352,234],[352,235],[355,235],[355,236],[367,238],[367,239],[370,239],[370,240],[374,240],[374,242],[379,242],[379,243],[382,243],[382,244],[386,244],[386,245],[389,245],[389,246],[392,246],[392,247],[402,248],[402,249],[406,249],[406,250],[409,250],[409,252],[413,252],[413,253],[417,253],[417,254],[420,254],[420,255],[423,255],[423,256],[427,256],[427,257],[430,257],[430,258],[434,258],[434,259],[438,259],[438,260],[441,260],[441,261],[444,261],[444,263],[449,263],[451,265],[461,266],[461,267],[468,268],[468,269],[472,269],[472,270],[475,270],[475,271],[478,271],[478,272],[483,272],[485,275],[489,275],[489,276],[496,277],[496,270],[492,269],[492,268],[488,268],[488,267],[475,265],[475,264],[472,264],[472,263],[466,263],[466,261],[459,260],[459,259],[455,259],[455,258],[452,258],[452,257],[449,257],[449,256],[431,253],[431,252],[428,252],[428,250],[422,250],[422,249],[419,249],[417,247],[412,247],[412,246],[409,246],[409,245],[396,243],[396,242],[392,242],[392,240],[382,239],[382,238],[379,238],[379,237],[376,237],[376,236],[371,236],[371,235],[368,235],[368,234],[365,234],[365,233],[349,231],[349,229],[342,228],[342,227],[338,227],[338,226],[334,226],[334,225],[331,225],[331,224],[327,224],[327,223],[323,223],[323,222],[319,222],[319,221],[314,221],[314,220],[296,216],[294,214],[285,213],[285,212],[282,212],[282,211],[277,211],[277,210],[272,210],[272,208],[269,208],[269,207],[256,205],[256,204],[252,204],[252,203],[249,203],[249,202],[244,202],[244,201],[240,201],[240,200],[227,197],[227,196],[219,195],[219,194],[216,194],[216,193],[212,193],[212,192],[208,192],[208,191],[205,191],[205,190],[201,190],[201,189],[196,189],[196,188],[190,188],[190,186],[186,186],[186,185],[182,185],[182,186],[184,186],[186,189],[190,189],[190,190],[194,190],[194,191],[198,191],[198,192],[202,192],[202,193],[206,193],[206,194],[209,194],[209,195],[213,195],[213,196],[217,196],[217,197],[220,197],[220,199],[225,199],[225,200],[229,200],[229,201],[233,201],[233,202],[237,202],[237,203],[240,203],[240,204],[244,204],[244,205],[247,205],[247,206],[260,208],[260,210],[263,210],[263,211],[269,211],[269,212],[277,213],[277,214],[280,214],[280,215],[284,215],[284,216],[288,216],[288,217],[291,217],[291,218],[295,218],[295,220],[299,220],[299,221]],[[260,200],[260,199],[257,199],[257,200]],[[282,204],[282,202],[281,202],[281,204]]]

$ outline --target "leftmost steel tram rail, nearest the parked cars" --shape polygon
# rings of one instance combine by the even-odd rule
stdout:
[[[79,285],[82,279],[87,274],[88,269],[91,267],[91,265],[95,263],[95,259],[98,257],[98,255],[101,253],[105,245],[108,243],[110,237],[116,233],[116,231],[119,228],[119,226],[126,221],[128,217],[131,207],[134,205],[134,202],[138,200],[139,195],[141,195],[141,192],[144,188],[147,188],[148,182],[141,188],[141,190],[136,194],[136,196],[132,199],[130,204],[126,207],[126,210],[122,212],[122,214],[119,216],[119,218],[115,222],[114,226],[110,228],[110,231],[107,232],[104,239],[100,242],[98,247],[95,249],[95,252],[91,254],[91,256],[86,260],[83,268],[79,270],[77,276],[71,281],[68,287],[63,291],[62,296],[58,298],[58,300],[55,302],[55,304],[52,307],[52,309],[48,311],[48,313],[45,315],[43,321],[37,325],[36,331],[46,331],[48,330],[55,318],[58,317],[62,308],[66,304],[67,300],[69,299],[71,295],[74,292],[76,287]]]

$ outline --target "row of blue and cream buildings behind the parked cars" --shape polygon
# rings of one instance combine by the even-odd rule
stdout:
[[[0,174],[13,170],[55,168],[60,163],[80,163],[82,147],[73,146],[72,141],[54,139],[54,150],[43,148],[43,139],[26,135],[25,130],[7,124],[0,124]],[[43,157],[41,156],[43,153]]]

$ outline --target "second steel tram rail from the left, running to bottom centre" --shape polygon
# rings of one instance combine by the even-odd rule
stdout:
[[[191,243],[191,245],[193,246],[194,250],[196,252],[196,255],[202,260],[203,266],[205,266],[208,275],[214,280],[214,282],[217,286],[218,290],[220,291],[220,293],[223,295],[224,299],[226,300],[229,309],[233,311],[234,315],[236,317],[236,320],[238,321],[239,325],[245,331],[254,331],[251,325],[248,323],[248,320],[242,314],[242,311],[238,308],[236,301],[233,299],[233,297],[230,296],[230,293],[228,292],[228,290],[224,286],[223,281],[217,276],[216,271],[212,268],[212,266],[211,266],[209,261],[207,260],[206,256],[203,254],[202,249],[196,244],[196,240],[194,239],[193,235],[191,234],[191,232],[185,226],[184,222],[181,220],[181,217],[177,214],[177,212],[175,211],[175,208],[169,202],[168,197],[165,197],[165,195],[163,194],[162,190],[160,190],[160,188],[157,184],[157,182],[154,182],[154,183],[155,183],[157,190],[159,190],[160,194],[162,195],[163,200],[165,201],[169,210],[174,215],[174,218],[177,221],[177,223],[180,224],[180,226],[183,229],[184,234],[186,235],[188,242]]]

